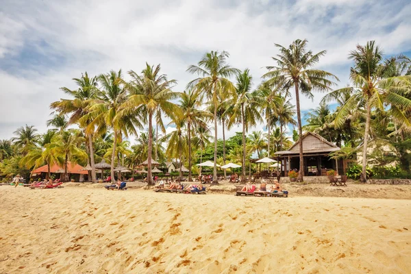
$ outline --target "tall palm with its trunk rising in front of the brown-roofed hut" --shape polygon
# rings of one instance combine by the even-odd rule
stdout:
[[[276,84],[284,90],[289,90],[294,86],[295,99],[297,101],[299,140],[303,136],[299,92],[312,98],[312,90],[330,90],[330,86],[334,82],[327,79],[328,77],[338,80],[332,73],[311,69],[314,64],[319,62],[320,57],[325,55],[326,51],[313,54],[312,51],[307,51],[307,42],[307,40],[295,40],[288,49],[282,45],[275,44],[280,52],[276,57],[273,57],[273,60],[277,62],[277,66],[267,66],[266,68],[269,69],[269,72],[263,76],[269,78],[268,82]],[[299,142],[299,167],[299,181],[303,182],[303,142]]]

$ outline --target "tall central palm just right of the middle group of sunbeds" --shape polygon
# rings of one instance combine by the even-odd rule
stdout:
[[[229,77],[238,73],[238,69],[233,69],[227,64],[229,53],[223,51],[211,51],[203,55],[197,66],[191,65],[187,71],[197,74],[200,77],[188,83],[188,88],[195,87],[199,92],[203,92],[208,101],[214,105],[214,176],[213,183],[218,183],[217,179],[217,109],[219,106],[219,92],[226,95],[235,94],[234,84],[229,81]]]

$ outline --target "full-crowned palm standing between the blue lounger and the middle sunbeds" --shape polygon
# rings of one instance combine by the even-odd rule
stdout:
[[[173,116],[179,109],[171,100],[177,97],[177,93],[171,91],[171,88],[177,84],[172,79],[168,80],[165,74],[160,74],[160,64],[158,66],[149,66],[146,63],[145,69],[139,75],[134,71],[129,71],[132,82],[127,84],[130,90],[129,99],[124,104],[125,113],[147,114],[149,122],[149,132],[153,132],[153,115],[155,112],[162,111],[167,116]],[[157,120],[158,121],[158,120]],[[148,166],[147,166],[147,183],[154,184],[151,175],[151,158],[153,151],[153,136],[149,134],[148,143]]]

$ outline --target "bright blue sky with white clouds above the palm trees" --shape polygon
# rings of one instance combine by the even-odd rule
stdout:
[[[195,78],[188,66],[212,50],[228,51],[229,64],[249,68],[257,86],[275,64],[275,43],[306,38],[314,53],[327,51],[317,68],[346,86],[357,44],[376,40],[387,56],[411,56],[410,14],[406,0],[1,0],[0,139],[25,124],[45,132],[50,103],[68,98],[60,87],[76,88],[71,79],[84,71],[122,69],[127,79],[145,62],[161,64],[182,91]],[[303,112],[319,105],[323,94],[314,94],[300,97]]]

